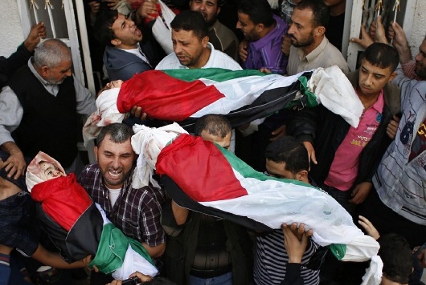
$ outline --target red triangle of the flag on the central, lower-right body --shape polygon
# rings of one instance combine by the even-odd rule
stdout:
[[[247,195],[218,147],[201,137],[180,135],[161,151],[156,169],[199,202]]]

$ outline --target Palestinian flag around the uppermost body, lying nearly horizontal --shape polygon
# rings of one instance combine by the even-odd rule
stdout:
[[[182,126],[206,114],[223,114],[236,127],[290,106],[311,74],[282,76],[221,68],[150,70],[123,83],[117,108],[126,113],[139,106],[152,118],[179,121]],[[303,104],[316,106],[315,95],[306,95]]]

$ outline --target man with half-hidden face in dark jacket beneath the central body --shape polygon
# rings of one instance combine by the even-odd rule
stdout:
[[[222,115],[197,120],[195,135],[228,149],[231,125]],[[251,242],[245,228],[166,202],[162,224],[169,234],[166,277],[178,284],[246,285],[251,277]]]

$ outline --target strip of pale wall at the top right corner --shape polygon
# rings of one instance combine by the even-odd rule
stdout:
[[[426,35],[426,1],[417,0],[414,12],[413,30],[411,38],[408,40],[411,47],[411,54],[415,56],[419,51],[419,46]]]

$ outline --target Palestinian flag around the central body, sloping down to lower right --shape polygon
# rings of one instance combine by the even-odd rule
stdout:
[[[178,205],[257,231],[304,222],[313,239],[338,259],[365,261],[378,243],[364,235],[339,203],[321,189],[256,172],[231,152],[181,134],[160,152],[163,185]],[[177,171],[178,170],[178,171]]]

